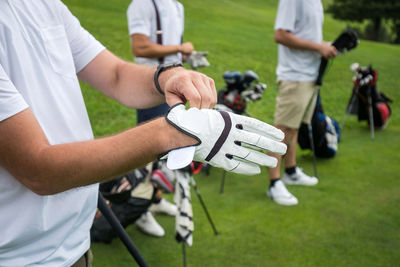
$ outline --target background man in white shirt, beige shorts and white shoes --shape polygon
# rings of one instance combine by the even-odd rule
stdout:
[[[267,195],[281,205],[298,203],[285,184],[313,186],[318,183],[317,177],[308,176],[296,166],[296,149],[301,121],[303,119],[310,123],[314,111],[315,81],[321,56],[332,58],[337,54],[334,46],[322,41],[323,20],[320,0],[279,1],[275,20],[275,41],[279,44],[276,70],[279,92],[274,124],[285,133],[284,141],[289,148],[284,157],[283,182],[280,179],[282,157],[275,155],[278,165],[269,169],[271,183]],[[305,114],[307,106],[308,112]]]

